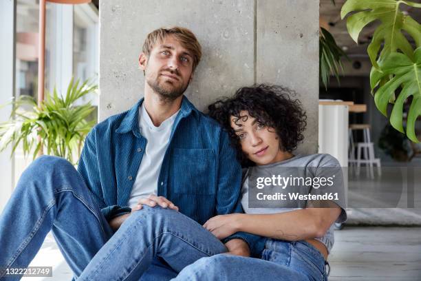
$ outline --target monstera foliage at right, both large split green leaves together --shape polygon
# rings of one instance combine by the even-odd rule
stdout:
[[[371,92],[376,88],[374,101],[387,116],[387,105],[393,103],[391,125],[399,132],[403,129],[403,106],[412,96],[407,118],[407,136],[418,143],[415,121],[421,114],[421,25],[400,10],[400,4],[421,8],[421,3],[396,0],[347,0],[341,9],[341,18],[347,14],[347,29],[358,43],[363,28],[373,22],[380,24],[373,34],[367,52],[373,67],[370,73]],[[402,31],[415,42],[415,52]],[[380,48],[382,50],[380,51]],[[396,90],[401,89],[396,97]]]

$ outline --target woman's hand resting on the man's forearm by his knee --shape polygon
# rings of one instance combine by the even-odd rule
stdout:
[[[241,216],[241,214],[214,216],[205,222],[203,226],[221,240],[239,231],[239,216]]]

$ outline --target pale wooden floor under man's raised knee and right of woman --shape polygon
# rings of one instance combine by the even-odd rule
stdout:
[[[335,244],[328,260],[331,281],[420,281],[421,227],[345,226],[335,231]],[[72,271],[51,234],[31,265],[53,267],[53,277],[22,280],[72,279]]]

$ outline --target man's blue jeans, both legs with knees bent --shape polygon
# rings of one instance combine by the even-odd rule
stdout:
[[[28,267],[50,230],[80,280],[139,280],[145,271],[142,280],[169,279],[199,258],[226,251],[197,222],[160,207],[133,212],[114,233],[91,196],[72,164],[36,159],[0,216],[0,280],[8,267]]]

